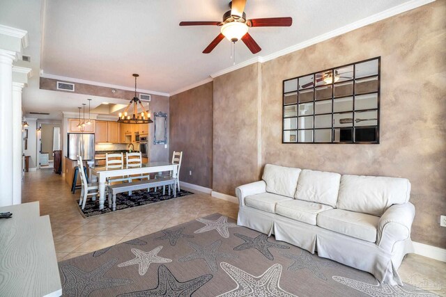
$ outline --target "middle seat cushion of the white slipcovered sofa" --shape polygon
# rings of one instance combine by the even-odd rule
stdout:
[[[318,213],[328,209],[332,209],[332,207],[302,200],[286,200],[276,204],[276,214],[310,225],[316,225]]]

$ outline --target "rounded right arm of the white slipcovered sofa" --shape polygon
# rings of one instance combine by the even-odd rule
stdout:
[[[389,207],[378,222],[376,244],[383,250],[392,252],[395,243],[410,238],[414,216],[415,207],[410,202]]]

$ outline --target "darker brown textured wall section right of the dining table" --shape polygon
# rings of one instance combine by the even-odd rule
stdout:
[[[170,137],[170,156],[183,152],[180,180],[212,188],[212,81],[170,97]]]

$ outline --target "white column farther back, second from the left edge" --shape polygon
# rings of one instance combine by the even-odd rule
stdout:
[[[13,82],[13,204],[22,203],[22,88]]]

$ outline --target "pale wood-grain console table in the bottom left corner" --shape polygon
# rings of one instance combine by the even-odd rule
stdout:
[[[49,216],[38,202],[0,207],[0,296],[61,296]]]

